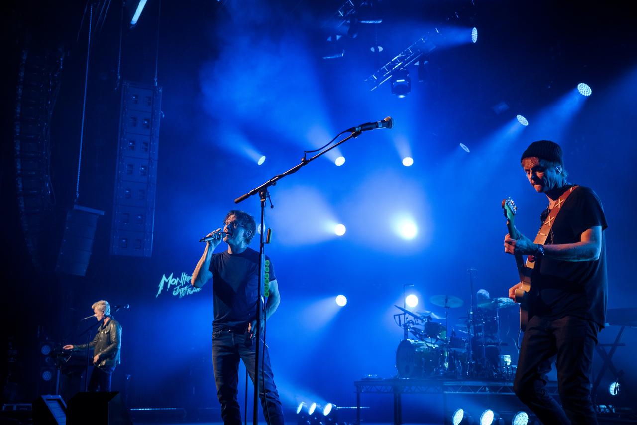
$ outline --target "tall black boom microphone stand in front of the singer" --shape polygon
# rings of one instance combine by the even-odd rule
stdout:
[[[258,417],[258,407],[259,407],[259,350],[261,350],[261,303],[265,303],[265,298],[263,296],[263,291],[264,291],[264,285],[263,285],[263,269],[262,269],[262,264],[265,263],[265,258],[266,258],[266,254],[265,254],[265,238],[264,238],[264,234],[265,234],[265,229],[266,229],[266,225],[265,225],[265,210],[266,210],[266,198],[270,197],[270,194],[268,192],[268,187],[270,186],[274,186],[276,185],[276,182],[278,182],[279,180],[281,180],[283,177],[288,176],[290,174],[296,173],[297,171],[299,171],[299,169],[301,169],[302,167],[306,166],[307,164],[309,164],[310,162],[314,161],[315,159],[317,159],[318,157],[326,154],[327,152],[329,152],[330,150],[342,145],[343,143],[345,143],[346,141],[352,139],[352,138],[357,138],[358,136],[361,135],[361,131],[352,131],[352,134],[350,134],[349,136],[347,136],[346,138],[344,138],[343,140],[339,141],[338,143],[332,145],[329,148],[326,148],[325,150],[322,150],[321,152],[318,152],[318,154],[314,155],[313,157],[311,157],[310,159],[306,159],[305,156],[303,156],[303,158],[301,159],[301,162],[299,164],[297,164],[296,166],[290,168],[289,170],[281,173],[281,174],[277,174],[275,176],[273,176],[272,178],[270,178],[267,182],[265,182],[264,184],[255,187],[254,189],[252,189],[251,191],[241,195],[239,198],[234,199],[234,203],[238,204],[241,201],[244,201],[245,199],[250,198],[250,196],[253,196],[255,194],[259,194],[259,198],[261,199],[261,238],[259,241],[259,291],[257,291],[257,332],[255,333],[255,338],[256,338],[256,352],[255,352],[255,357],[254,357],[254,403],[253,403],[253,407],[252,407],[252,423],[254,425],[257,425],[259,422],[259,417]],[[274,205],[272,205],[272,200],[270,199],[270,208],[274,208]],[[262,301],[263,300],[263,301]],[[265,306],[264,306],[264,310],[265,310]],[[265,315],[265,314],[264,314]],[[264,342],[265,345],[265,342]],[[264,387],[264,393],[265,393],[265,387]],[[265,396],[265,394],[264,394]],[[267,405],[266,405],[267,408]]]

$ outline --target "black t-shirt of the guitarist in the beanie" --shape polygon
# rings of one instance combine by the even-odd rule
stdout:
[[[598,196],[580,186],[564,201],[548,234],[546,245],[576,243],[590,227],[606,229],[606,217]],[[541,220],[548,217],[548,210]],[[538,267],[539,265],[539,267]],[[606,315],[606,241],[602,231],[601,253],[596,261],[561,261],[544,257],[531,275],[529,313],[545,319],[575,315],[603,328]]]

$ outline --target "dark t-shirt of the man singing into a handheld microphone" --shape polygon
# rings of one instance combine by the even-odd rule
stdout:
[[[266,263],[268,261],[266,256]],[[269,280],[275,280],[272,262],[264,266]],[[227,251],[212,254],[208,270],[213,275],[213,329],[245,331],[248,323],[257,318],[259,252],[248,248],[241,254]]]

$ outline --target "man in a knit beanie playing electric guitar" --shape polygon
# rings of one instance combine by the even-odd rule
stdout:
[[[535,141],[520,159],[529,183],[548,198],[544,223],[560,208],[543,245],[520,234],[505,236],[505,252],[534,262],[527,294],[529,322],[524,331],[513,389],[545,424],[597,424],[590,398],[590,372],[598,332],[606,313],[606,218],[592,189],[569,184],[562,149]],[[566,191],[573,189],[566,200]],[[515,289],[509,297],[515,299]],[[555,359],[560,406],[545,391]]]

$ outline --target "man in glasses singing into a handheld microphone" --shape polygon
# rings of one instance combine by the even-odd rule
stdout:
[[[209,233],[206,247],[192,272],[190,283],[199,288],[213,279],[214,321],[212,324],[212,362],[221,403],[224,424],[240,424],[241,412],[237,401],[239,360],[255,381],[257,294],[259,293],[259,252],[248,245],[256,233],[254,218],[243,211],[231,210],[221,228]],[[224,241],[228,249],[213,254]],[[266,260],[269,258],[266,256]],[[278,283],[272,263],[269,263],[269,296],[262,308],[264,319],[275,312],[280,303]],[[263,335],[263,328],[261,328]],[[259,377],[259,397],[263,415],[269,425],[283,424],[283,410],[270,366],[268,346],[263,344],[263,375]]]

